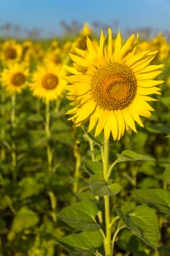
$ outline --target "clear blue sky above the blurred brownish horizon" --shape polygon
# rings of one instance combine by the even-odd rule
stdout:
[[[39,28],[60,34],[61,20],[92,24],[98,21],[121,30],[152,27],[170,31],[170,0],[4,0],[0,27],[5,23],[23,29]]]

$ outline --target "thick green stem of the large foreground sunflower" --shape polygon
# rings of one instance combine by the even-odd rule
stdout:
[[[109,140],[104,140],[104,179],[108,181],[108,170],[109,170]],[[109,195],[104,196],[104,214],[105,214],[105,227],[106,227],[106,239],[104,241],[104,248],[106,256],[112,256],[112,241],[111,241],[111,223],[110,223],[110,203]]]

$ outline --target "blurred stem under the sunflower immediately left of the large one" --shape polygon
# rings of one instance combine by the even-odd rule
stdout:
[[[47,138],[47,166],[48,172],[52,172],[52,160],[53,152],[50,147],[50,102],[46,101],[46,111],[45,111],[45,133]]]

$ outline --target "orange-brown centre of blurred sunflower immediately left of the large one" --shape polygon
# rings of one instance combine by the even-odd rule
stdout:
[[[44,75],[44,77],[42,78],[42,86],[46,90],[55,89],[55,87],[58,86],[58,77],[51,73]]]

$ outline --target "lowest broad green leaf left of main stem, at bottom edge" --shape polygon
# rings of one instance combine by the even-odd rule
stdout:
[[[95,249],[101,246],[103,237],[99,231],[81,232],[65,236],[58,240],[66,249],[72,251],[70,255],[90,255]]]

